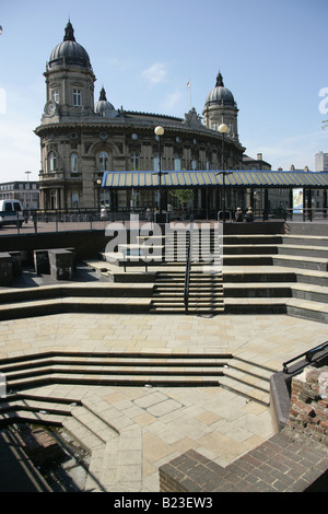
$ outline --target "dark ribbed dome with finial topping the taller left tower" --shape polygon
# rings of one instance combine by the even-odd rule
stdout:
[[[91,69],[89,55],[83,46],[77,43],[74,30],[70,22],[65,28],[63,42],[59,43],[51,51],[48,67],[54,68],[65,65]]]

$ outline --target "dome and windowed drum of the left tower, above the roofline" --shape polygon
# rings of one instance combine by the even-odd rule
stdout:
[[[47,103],[43,122],[56,115],[81,117],[94,114],[95,75],[86,50],[75,40],[71,22],[65,28],[62,43],[50,54],[45,77]]]

